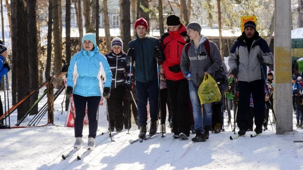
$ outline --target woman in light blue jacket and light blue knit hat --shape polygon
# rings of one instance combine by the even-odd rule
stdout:
[[[87,104],[87,116],[89,122],[88,148],[95,148],[97,133],[97,110],[101,96],[110,96],[112,73],[106,58],[99,52],[96,45],[96,35],[87,33],[82,38],[82,49],[76,53],[68,69],[66,97],[74,98],[76,108],[75,118],[75,148],[82,145],[83,120]],[[101,76],[105,77],[103,85]],[[103,88],[104,86],[104,88]]]

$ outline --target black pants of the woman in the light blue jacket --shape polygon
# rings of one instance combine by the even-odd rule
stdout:
[[[101,96],[83,97],[80,95],[73,95],[76,108],[75,118],[75,137],[82,137],[83,120],[85,117],[85,108],[87,103],[87,116],[88,116],[88,137],[96,138],[98,122],[97,111]]]

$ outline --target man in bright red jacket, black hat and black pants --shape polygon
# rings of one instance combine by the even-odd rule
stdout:
[[[189,38],[186,27],[177,15],[168,16],[167,25],[168,31],[161,36],[162,56],[159,60],[159,70],[166,77],[168,96],[171,99],[173,137],[186,140],[190,132],[190,99],[188,81],[180,69],[180,58],[184,45],[189,43]]]

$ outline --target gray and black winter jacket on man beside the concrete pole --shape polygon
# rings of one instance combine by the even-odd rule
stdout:
[[[266,41],[259,36],[257,31],[254,34],[250,52],[248,52],[245,43],[245,33],[237,38],[232,49],[230,49],[228,65],[230,70],[238,68],[239,81],[251,82],[262,78],[260,63],[257,59],[258,54],[263,56],[264,63],[273,64],[273,53]]]

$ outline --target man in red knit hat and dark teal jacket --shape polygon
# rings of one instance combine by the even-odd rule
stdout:
[[[155,134],[157,131],[159,96],[157,58],[160,57],[160,43],[157,38],[146,33],[149,27],[144,18],[138,19],[134,28],[137,31],[137,37],[128,43],[127,59],[128,63],[135,62],[139,125],[141,126],[139,138],[145,138],[148,99],[151,115],[150,134]]]

